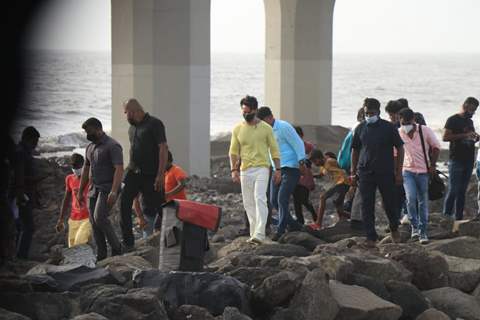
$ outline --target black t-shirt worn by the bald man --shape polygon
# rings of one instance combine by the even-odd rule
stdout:
[[[155,175],[158,171],[158,145],[167,142],[165,126],[155,117],[145,114],[143,121],[128,129],[130,140],[129,169],[139,169],[141,173]]]

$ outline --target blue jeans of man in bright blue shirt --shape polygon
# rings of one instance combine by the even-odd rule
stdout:
[[[270,180],[270,203],[272,208],[277,210],[279,217],[277,234],[285,233],[287,227],[291,230],[301,229],[301,225],[293,219],[288,209],[290,196],[299,179],[299,169],[284,167],[282,168],[282,181],[279,185],[275,184],[273,177]]]

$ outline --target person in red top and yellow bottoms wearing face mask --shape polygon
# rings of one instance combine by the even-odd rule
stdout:
[[[70,217],[68,219],[68,247],[85,244],[92,234],[92,226],[89,220],[88,208],[85,201],[77,201],[77,193],[80,189],[80,178],[82,176],[83,157],[74,153],[70,157],[73,174],[65,178],[65,194],[63,196],[60,216],[58,217],[55,229],[61,232],[65,229],[64,217],[67,212],[68,203],[71,203]],[[83,197],[86,198],[88,188],[84,188]]]

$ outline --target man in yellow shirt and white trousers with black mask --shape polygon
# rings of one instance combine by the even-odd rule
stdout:
[[[242,186],[242,198],[250,224],[248,242],[260,244],[265,239],[268,217],[267,186],[269,183],[270,155],[275,164],[273,179],[280,183],[280,153],[273,129],[256,117],[258,102],[246,96],[240,101],[245,121],[237,124],[230,141],[232,180]]]

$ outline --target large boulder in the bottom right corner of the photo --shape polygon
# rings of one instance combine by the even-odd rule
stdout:
[[[480,320],[480,304],[475,297],[455,288],[438,288],[424,291],[433,307],[445,312],[451,318]]]

